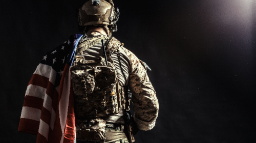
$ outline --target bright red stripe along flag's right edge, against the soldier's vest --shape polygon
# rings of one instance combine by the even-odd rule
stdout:
[[[67,122],[65,126],[63,143],[71,143],[75,140],[75,112],[74,112],[74,95],[72,83],[70,83],[69,108]]]

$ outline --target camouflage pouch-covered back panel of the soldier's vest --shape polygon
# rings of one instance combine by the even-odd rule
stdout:
[[[118,113],[117,74],[112,63],[86,61],[75,56],[71,79],[75,93],[76,117],[105,117]]]

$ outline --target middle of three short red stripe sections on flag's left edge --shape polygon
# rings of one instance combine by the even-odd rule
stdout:
[[[44,103],[44,99],[34,97],[34,96],[25,96],[23,106],[33,107],[41,110],[43,103]]]

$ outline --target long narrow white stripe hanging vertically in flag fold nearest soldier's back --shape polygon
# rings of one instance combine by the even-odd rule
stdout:
[[[60,118],[62,135],[64,135],[67,116],[68,116],[69,93],[70,93],[70,67],[69,67],[68,73],[66,73],[65,75],[64,80],[65,81],[63,83],[63,91],[62,91],[61,99],[59,101],[59,118]]]

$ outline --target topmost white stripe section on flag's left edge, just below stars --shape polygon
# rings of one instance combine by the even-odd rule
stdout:
[[[44,77],[48,77],[49,81],[55,83],[56,71],[51,66],[39,64],[34,72]]]

